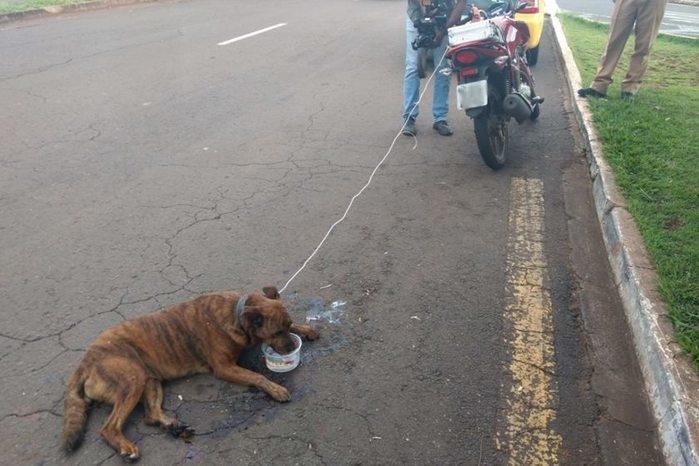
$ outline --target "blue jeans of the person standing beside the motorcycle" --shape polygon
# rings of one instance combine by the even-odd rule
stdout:
[[[420,113],[417,101],[420,97],[420,77],[417,74],[417,50],[413,50],[412,42],[417,38],[417,29],[407,18],[405,23],[406,49],[405,49],[405,78],[403,79],[403,119],[417,118]],[[440,69],[445,65],[446,59],[439,63],[440,58],[447,49],[446,36],[442,39],[439,47],[433,50],[435,68]],[[444,76],[437,72],[434,76],[434,91],[432,95],[432,118],[435,123],[446,121],[449,113],[449,87],[451,86],[451,75]]]

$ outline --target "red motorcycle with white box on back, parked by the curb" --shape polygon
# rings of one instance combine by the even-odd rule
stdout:
[[[526,43],[529,29],[499,2],[482,11],[483,19],[451,27],[447,57],[458,85],[459,110],[473,119],[478,150],[486,165],[502,168],[507,160],[510,119],[518,123],[539,117],[543,97],[534,91]]]

